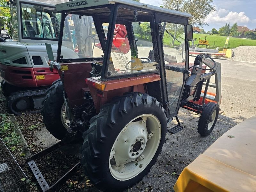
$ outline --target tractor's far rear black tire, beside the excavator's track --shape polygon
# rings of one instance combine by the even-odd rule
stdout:
[[[41,112],[46,129],[58,140],[62,140],[68,133],[61,121],[63,103],[63,84],[58,81],[47,90]]]

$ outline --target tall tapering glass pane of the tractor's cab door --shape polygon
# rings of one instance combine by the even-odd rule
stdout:
[[[170,112],[179,107],[179,97],[185,70],[185,27],[184,25],[162,22],[164,28],[164,63]]]

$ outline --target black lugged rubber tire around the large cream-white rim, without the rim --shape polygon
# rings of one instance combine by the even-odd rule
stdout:
[[[163,105],[148,94],[127,93],[113,102],[102,106],[100,113],[90,120],[90,128],[84,132],[82,164],[90,181],[101,190],[122,191],[139,182],[155,164],[161,153],[167,132],[166,111]],[[161,124],[159,146],[148,166],[129,180],[117,180],[109,168],[111,148],[124,126],[143,114],[152,114]]]

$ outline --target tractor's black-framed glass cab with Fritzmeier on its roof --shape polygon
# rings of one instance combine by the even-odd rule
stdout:
[[[79,58],[70,58],[62,50],[62,44],[67,42],[66,29],[60,28],[62,41],[59,42],[57,62],[62,68],[68,68],[60,73],[69,74],[75,70],[71,66],[87,66],[87,71],[93,68],[87,76],[81,76],[80,81],[84,82],[86,78],[84,86],[90,91],[92,85],[100,84],[98,95],[107,95],[115,89],[122,95],[132,91],[134,85],[137,91],[145,92],[144,84],[148,83],[150,95],[161,100],[166,109],[171,109],[168,110],[170,116],[177,115],[179,98],[188,77],[188,39],[192,36],[188,19],[191,15],[137,3],[130,6],[130,1],[106,1],[104,5],[87,3],[77,1],[56,5],[62,12],[60,25],[64,26],[68,18],[74,23],[76,33],[82,34],[72,45]],[[77,70],[82,73],[80,67]],[[65,86],[69,86],[71,79],[68,80],[68,76],[71,75],[66,76]],[[119,86],[110,85],[118,81]],[[130,84],[132,86],[128,86]],[[172,91],[168,93],[167,89]],[[67,94],[70,102],[75,104],[77,95],[74,92]],[[95,99],[95,103],[99,102],[96,110],[113,96],[109,94],[108,100],[105,96]]]

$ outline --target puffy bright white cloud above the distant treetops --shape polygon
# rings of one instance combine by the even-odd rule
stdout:
[[[230,25],[237,23],[238,25],[245,25],[246,23],[252,22],[252,20],[246,16],[244,12],[232,12],[226,9],[219,9],[213,12],[207,22],[211,24],[224,24],[230,23]]]

